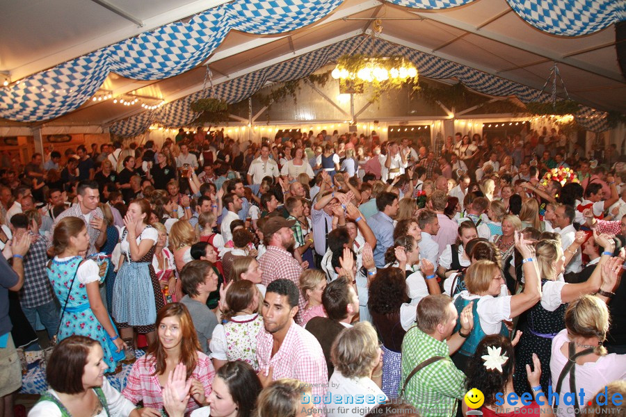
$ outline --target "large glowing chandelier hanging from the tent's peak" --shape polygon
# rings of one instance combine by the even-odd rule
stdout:
[[[383,23],[376,19],[371,35],[365,39],[371,42],[372,48],[375,49],[380,42],[378,35],[382,32]],[[399,55],[383,56],[376,51],[341,56],[330,75],[348,83],[374,83],[387,88],[399,88],[408,81],[417,84],[417,68],[410,60]]]

